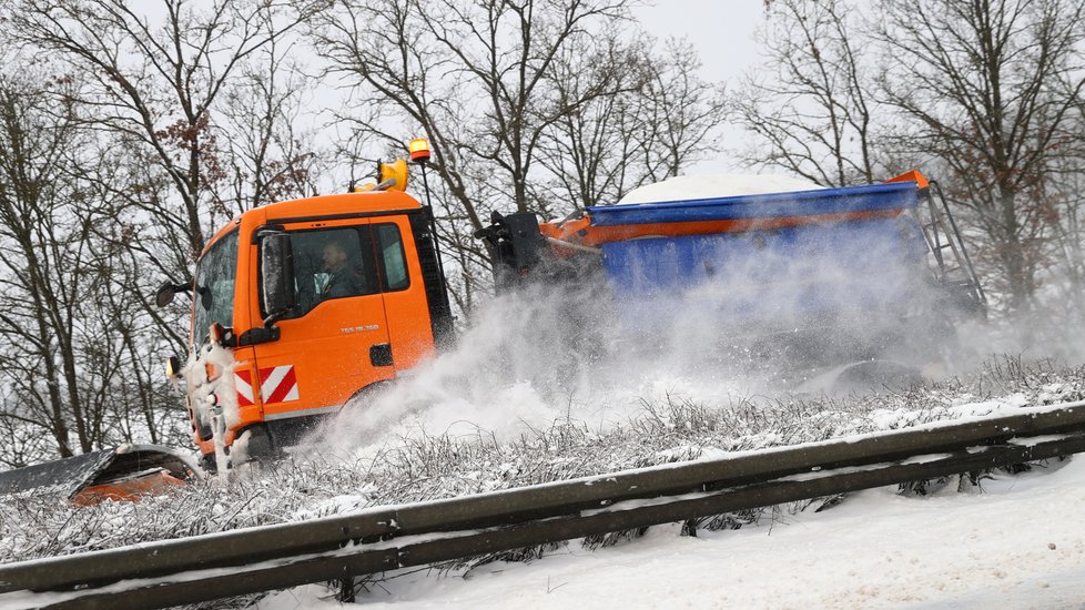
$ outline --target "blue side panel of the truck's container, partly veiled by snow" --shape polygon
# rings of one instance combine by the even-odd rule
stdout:
[[[914,222],[879,218],[608,243],[604,266],[623,317],[681,306],[754,321],[904,303],[925,254]]]

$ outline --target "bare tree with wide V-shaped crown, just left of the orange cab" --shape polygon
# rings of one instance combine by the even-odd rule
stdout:
[[[133,197],[133,205],[184,236],[185,268],[221,222],[205,205],[223,177],[212,112],[231,78],[257,51],[286,35],[320,2],[214,0],[203,8],[162,0],[152,19],[124,0],[19,0],[9,35],[61,53],[94,87],[88,112],[104,129],[146,149],[165,173],[180,210]]]

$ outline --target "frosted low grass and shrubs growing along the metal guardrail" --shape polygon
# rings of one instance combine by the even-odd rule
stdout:
[[[865,396],[728,395],[694,400],[675,390],[640,400],[627,420],[606,428],[570,416],[506,438],[484,430],[405,433],[346,460],[342,455],[298,451],[256,471],[235,472],[229,486],[210,481],[140,502],[77,508],[48,494],[8,496],[0,498],[0,556],[9,562],[84,552],[718,457],[724,451],[1012,413],[1024,405],[1083,399],[1083,388],[1085,367],[1005,357],[967,376]],[[907,492],[927,485],[907,486]],[[781,510],[794,514],[824,504],[795,502],[718,516],[703,519],[700,527],[739,528],[771,519]],[[621,538],[574,543],[591,548]],[[525,549],[467,563],[528,559],[545,551]]]

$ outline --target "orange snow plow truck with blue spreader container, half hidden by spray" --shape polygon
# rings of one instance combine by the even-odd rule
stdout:
[[[409,150],[425,170],[427,144]],[[454,340],[432,207],[405,192],[405,160],[378,171],[366,189],[244,212],[209,241],[191,284],[159,289],[161,306],[192,295],[190,353],[168,374],[184,389],[205,470],[277,454]],[[657,199],[557,222],[494,213],[476,236],[498,289],[590,283],[633,340],[680,307],[710,314],[722,326],[694,331],[750,357],[919,370],[954,319],[984,315],[950,209],[919,172]]]

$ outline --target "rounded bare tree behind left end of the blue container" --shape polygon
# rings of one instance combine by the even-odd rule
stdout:
[[[561,99],[586,101],[547,131],[540,162],[557,192],[579,207],[615,203],[719,150],[712,138],[727,120],[722,88],[698,77],[689,42],[669,40],[660,53],[651,39],[627,38],[597,35],[610,42],[587,65],[589,51],[576,48],[575,59],[555,63]],[[587,94],[588,88],[604,94]]]

